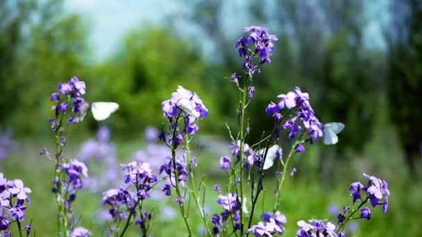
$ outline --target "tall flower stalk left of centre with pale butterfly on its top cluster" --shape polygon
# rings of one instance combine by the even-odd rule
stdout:
[[[188,212],[191,198],[194,198],[196,207],[199,209],[201,218],[205,223],[206,229],[210,233],[208,225],[206,225],[206,217],[203,211],[203,207],[199,202],[199,198],[196,195],[194,176],[192,170],[192,164],[196,165],[196,158],[193,159],[189,151],[189,136],[193,136],[199,130],[199,126],[196,125],[197,119],[203,119],[208,115],[208,109],[203,105],[202,100],[196,94],[192,93],[183,87],[178,89],[171,94],[171,99],[162,102],[162,110],[164,116],[170,122],[170,136],[166,136],[164,131],[160,134],[160,139],[164,143],[169,144],[171,148],[171,161],[169,164],[162,166],[161,172],[168,175],[167,185],[164,186],[163,191],[166,195],[171,194],[171,187],[176,189],[175,202],[178,204],[180,214],[183,217],[189,236],[192,236],[192,228],[189,226]],[[183,127],[181,122],[183,121]],[[169,137],[169,139],[167,139]],[[176,149],[180,145],[185,145],[185,154],[181,159],[176,159]],[[189,202],[185,204],[186,191],[183,192],[183,188],[187,188],[189,176],[191,177],[191,191],[189,191]]]

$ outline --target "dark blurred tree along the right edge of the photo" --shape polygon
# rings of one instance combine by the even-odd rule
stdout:
[[[412,176],[421,161],[422,139],[422,4],[392,1],[389,41],[389,112],[398,130]]]

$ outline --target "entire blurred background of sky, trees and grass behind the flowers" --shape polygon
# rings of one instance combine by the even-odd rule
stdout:
[[[37,236],[56,231],[53,164],[39,152],[53,148],[49,98],[58,82],[78,76],[87,83],[87,100],[120,104],[108,121],[87,118],[69,130],[67,157],[85,155],[97,177],[113,169],[104,165],[107,155],[116,176],[117,164],[162,159],[167,151],[146,142],[144,130],[161,128],[160,103],[177,85],[195,91],[210,109],[194,141],[197,172],[210,185],[223,182],[218,161],[228,153],[225,123],[236,128],[238,98],[225,78],[242,70],[234,45],[249,25],[267,26],[279,40],[256,80],[248,142],[271,129],[265,105],[295,85],[310,93],[321,121],[346,124],[337,146],[318,143],[294,158],[298,173],[281,209],[286,236],[294,236],[298,220],[334,220],[330,210],[350,204],[348,184],[364,182],[362,173],[387,179],[391,204],[386,214],[378,210],[370,222],[356,222],[352,236],[419,236],[421,1],[2,0],[0,172],[32,188],[27,220],[33,218]],[[101,126],[110,139],[96,138]],[[111,150],[89,153],[102,143]],[[97,210],[106,186],[93,185],[76,201],[75,212],[94,236],[104,233]],[[214,213],[217,193],[208,189]],[[151,201],[151,208],[158,216],[154,236],[184,236],[171,200]],[[192,222],[200,231],[201,221]]]

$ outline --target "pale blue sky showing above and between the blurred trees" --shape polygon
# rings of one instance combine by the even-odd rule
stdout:
[[[368,24],[364,31],[364,42],[371,49],[384,49],[382,27],[388,24],[389,20],[388,0],[367,1],[366,4]],[[223,8],[223,15],[239,12],[243,7],[244,1],[228,1]],[[100,60],[113,53],[124,34],[131,28],[160,24],[169,15],[185,14],[188,11],[180,6],[180,2],[169,0],[65,0],[65,10],[81,13],[90,23],[89,39],[94,60]],[[248,24],[248,19],[246,16],[240,18],[237,21],[230,19],[230,22],[226,23],[223,21],[223,24],[230,24],[230,28],[243,28]],[[187,34],[200,34],[199,30],[189,27],[186,22],[178,24],[184,26]],[[212,46],[207,44],[203,49],[212,51]]]

